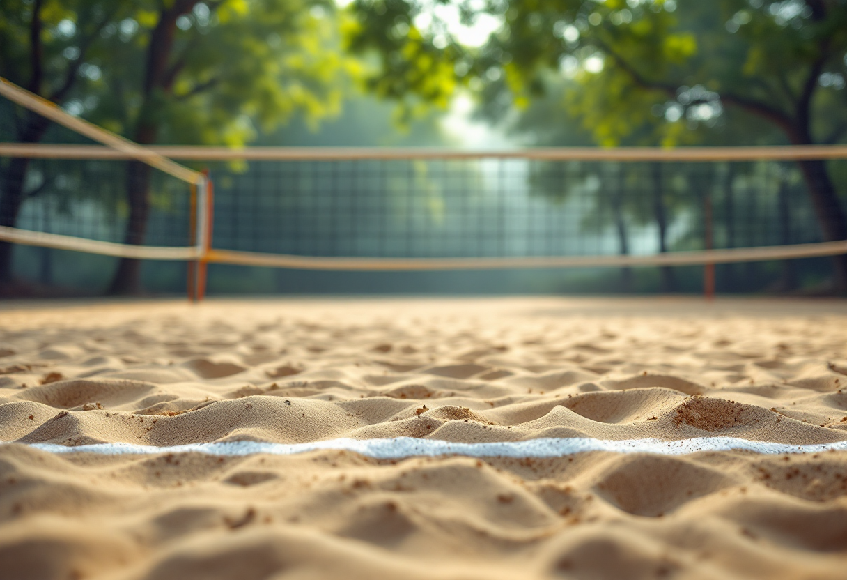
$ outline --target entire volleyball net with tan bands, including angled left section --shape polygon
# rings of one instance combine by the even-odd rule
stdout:
[[[709,268],[847,254],[821,227],[822,212],[843,213],[847,147],[141,147],[8,83],[0,95],[0,239],[195,261],[196,298],[207,262]],[[67,132],[14,138],[39,117]],[[831,208],[813,203],[821,184]]]

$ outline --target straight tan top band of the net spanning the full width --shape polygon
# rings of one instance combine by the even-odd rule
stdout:
[[[75,117],[71,117],[75,119]],[[81,122],[81,121],[80,121]],[[134,144],[134,143],[133,143]],[[136,147],[141,147],[137,146]],[[847,146],[806,145],[780,147],[649,147],[527,148],[462,151],[446,148],[345,148],[345,147],[192,147],[164,145],[142,148],[146,155],[195,161],[352,161],[390,159],[538,159],[549,161],[797,161],[847,159]],[[0,143],[0,156],[54,159],[131,159],[126,153],[98,145]]]

